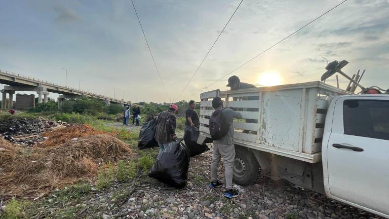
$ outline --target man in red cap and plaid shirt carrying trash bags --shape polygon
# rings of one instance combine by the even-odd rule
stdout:
[[[160,153],[165,147],[167,147],[174,139],[176,135],[176,115],[178,112],[178,106],[171,104],[167,111],[161,112],[157,118],[157,127],[155,127],[154,138],[160,146]]]

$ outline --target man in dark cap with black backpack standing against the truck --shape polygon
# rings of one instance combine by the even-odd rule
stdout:
[[[235,159],[234,145],[234,126],[232,120],[234,118],[241,119],[242,115],[230,108],[223,108],[223,101],[220,97],[215,97],[212,100],[212,107],[215,109],[210,120],[209,130],[213,139],[213,154],[211,163],[211,180],[210,188],[221,187],[222,183],[218,180],[217,168],[220,159],[224,162],[225,175],[225,193],[227,198],[238,196],[238,191],[232,189],[232,176]]]

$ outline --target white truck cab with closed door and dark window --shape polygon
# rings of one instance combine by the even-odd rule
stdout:
[[[332,100],[322,159],[328,197],[389,217],[389,95]]]

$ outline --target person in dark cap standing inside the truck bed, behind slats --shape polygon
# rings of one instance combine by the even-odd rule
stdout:
[[[256,88],[252,84],[241,82],[238,76],[231,76],[228,78],[227,87],[230,87],[231,90],[240,90],[240,89],[248,89],[248,88]],[[237,100],[259,100],[259,96],[250,96],[250,97],[234,97],[234,101]],[[248,112],[258,112],[258,109],[248,108]],[[247,123],[258,123],[258,120],[255,119],[246,119]],[[250,130],[243,130],[243,133],[249,133]],[[253,131],[255,134],[256,131]]]

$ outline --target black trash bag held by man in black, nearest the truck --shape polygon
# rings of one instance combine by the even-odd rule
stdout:
[[[190,157],[203,154],[206,151],[209,151],[207,144],[198,144],[197,139],[199,138],[200,130],[193,126],[185,127],[184,141],[186,147],[189,150]]]

